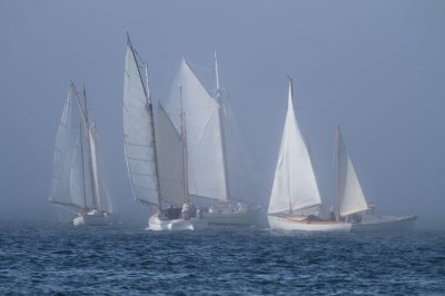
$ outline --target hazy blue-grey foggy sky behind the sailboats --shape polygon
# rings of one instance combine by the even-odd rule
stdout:
[[[218,51],[221,85],[269,190],[291,76],[326,203],[336,203],[340,125],[377,210],[445,229],[444,28],[439,0],[0,1],[0,216],[56,216],[46,201],[53,145],[75,81],[86,85],[118,208],[147,218],[123,156],[128,31],[155,98],[168,95],[182,57],[211,70]]]

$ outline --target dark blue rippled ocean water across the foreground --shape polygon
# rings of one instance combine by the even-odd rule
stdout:
[[[445,233],[0,223],[0,295],[445,295]]]

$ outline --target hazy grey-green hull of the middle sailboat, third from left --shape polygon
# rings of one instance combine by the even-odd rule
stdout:
[[[202,218],[214,225],[257,225],[260,207],[244,213],[202,213]]]

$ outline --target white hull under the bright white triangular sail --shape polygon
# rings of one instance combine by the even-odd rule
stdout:
[[[316,233],[349,233],[350,223],[339,221],[308,221],[290,217],[267,216],[270,229],[288,231],[316,231]]]

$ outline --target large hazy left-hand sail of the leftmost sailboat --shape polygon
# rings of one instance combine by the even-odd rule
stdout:
[[[72,200],[70,182],[81,125],[81,110],[76,88],[71,85],[56,136],[50,201],[67,205],[76,203]],[[76,206],[83,207],[83,203],[76,203]]]

